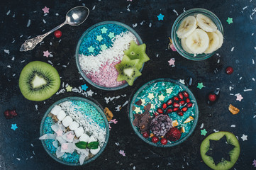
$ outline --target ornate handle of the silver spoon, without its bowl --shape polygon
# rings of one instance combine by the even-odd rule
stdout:
[[[45,33],[43,35],[38,35],[35,38],[30,38],[28,40],[26,40],[23,45],[21,45],[20,51],[28,51],[28,50],[33,50],[33,48],[38,45],[39,42],[41,42],[43,40],[43,38],[45,38],[47,35],[49,35],[50,33],[54,32],[55,30],[61,28],[62,26],[64,26],[67,22],[65,21],[64,23],[60,24],[60,26],[57,26],[55,28],[53,28],[52,30],[48,31],[48,33]]]

